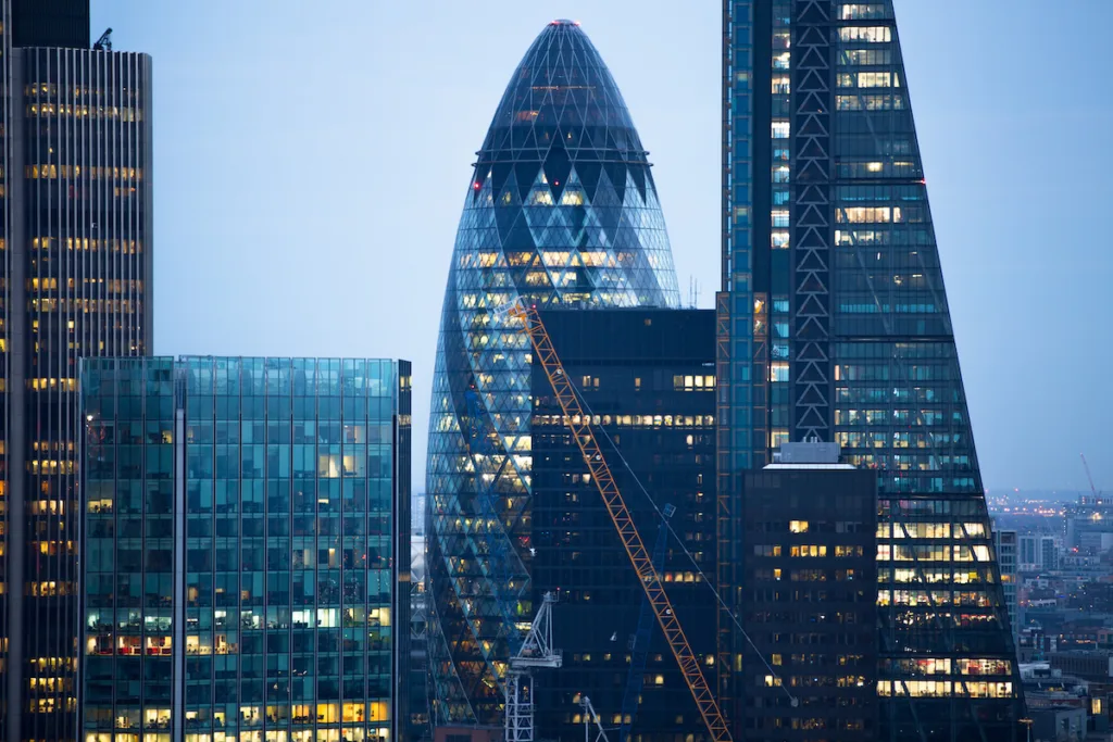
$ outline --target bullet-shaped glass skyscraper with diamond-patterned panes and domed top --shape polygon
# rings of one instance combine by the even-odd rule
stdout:
[[[529,343],[500,313],[674,307],[647,152],[578,23],[548,24],[495,111],[449,271],[429,439],[439,722],[499,723],[530,601]]]

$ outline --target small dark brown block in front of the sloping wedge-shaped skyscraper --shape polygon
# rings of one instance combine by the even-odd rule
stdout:
[[[812,458],[743,486],[736,739],[878,739],[877,477]]]

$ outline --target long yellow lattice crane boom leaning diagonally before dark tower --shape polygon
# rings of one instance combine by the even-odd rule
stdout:
[[[688,643],[688,637],[684,636],[676,611],[672,610],[669,596],[664,592],[664,584],[661,582],[661,576],[653,568],[653,561],[649,552],[646,551],[646,545],[642,543],[641,535],[634,526],[630,509],[622,499],[622,494],[619,492],[618,485],[614,483],[614,477],[611,475],[611,471],[603,458],[603,452],[599,447],[599,442],[591,431],[591,417],[584,414],[575,389],[564,374],[560,358],[553,349],[549,333],[545,330],[544,325],[541,323],[541,317],[538,315],[536,307],[532,305],[524,307],[515,303],[508,309],[506,314],[510,317],[521,320],[522,327],[519,332],[530,338],[533,352],[538,354],[538,360],[541,363],[542,368],[544,368],[549,384],[552,385],[553,395],[556,397],[556,402],[560,403],[564,418],[568,421],[575,443],[580,447],[580,453],[583,454],[583,459],[588,464],[591,478],[594,479],[595,486],[599,488],[599,494],[603,497],[607,512],[611,516],[619,538],[622,540],[622,545],[630,557],[630,563],[638,574],[638,582],[641,583],[642,590],[646,591],[646,596],[653,609],[657,622],[664,633],[664,639],[669,643],[672,656],[677,659],[680,672],[684,676],[688,690],[691,691],[692,698],[696,700],[696,705],[699,708],[700,715],[703,718],[703,723],[707,725],[711,739],[715,742],[731,742],[727,720],[723,718],[722,711],[719,709],[719,703],[716,701],[715,694],[711,692],[711,687],[703,676],[703,671],[700,667],[699,660],[696,659],[696,654],[692,652],[691,645]]]

